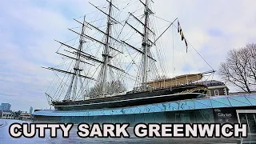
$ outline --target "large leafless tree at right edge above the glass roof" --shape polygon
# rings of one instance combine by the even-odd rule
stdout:
[[[226,62],[222,62],[218,74],[226,81],[251,93],[256,86],[256,44],[228,52]]]

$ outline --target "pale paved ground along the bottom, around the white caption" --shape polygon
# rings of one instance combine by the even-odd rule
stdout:
[[[170,143],[170,144],[217,144],[217,143],[255,143],[256,135],[253,138],[137,138],[133,134],[133,130],[129,130],[130,138],[79,138],[76,134],[76,126],[70,131],[70,138],[62,138],[62,134],[58,134],[58,138],[50,138],[49,132],[46,138],[11,138],[9,135],[9,126],[13,122],[20,122],[16,120],[2,120],[0,119],[0,143]],[[46,130],[47,133],[47,130]],[[243,141],[243,142],[241,142]]]

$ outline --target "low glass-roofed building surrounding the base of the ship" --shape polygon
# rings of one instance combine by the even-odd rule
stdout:
[[[256,94],[222,95],[100,110],[38,110],[35,122],[247,123],[256,134]]]

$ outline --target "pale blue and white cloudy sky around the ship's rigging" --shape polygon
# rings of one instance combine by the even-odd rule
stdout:
[[[90,10],[86,0],[0,1],[0,102],[12,110],[48,107],[44,92],[53,73],[41,66],[59,62],[54,39],[68,40],[72,18]],[[186,38],[214,70],[228,50],[256,42],[254,0],[154,0],[154,10],[170,21],[178,17]]]

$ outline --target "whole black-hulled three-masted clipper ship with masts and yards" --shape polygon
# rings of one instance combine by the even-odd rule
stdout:
[[[154,26],[150,24],[150,18],[154,17],[154,12],[150,8],[151,1],[138,2],[141,3],[144,14],[136,16],[135,12],[129,12],[125,20],[119,20],[117,14],[114,14],[114,11],[121,9],[112,0],[106,1],[106,10],[90,3],[95,10],[103,14],[102,18],[106,18],[106,26],[98,26],[97,20],[86,21],[88,16],[85,15],[82,21],[74,19],[81,26],[81,31],[69,29],[78,35],[78,46],[56,40],[65,47],[63,52],[58,50],[56,53],[71,62],[65,65],[68,67],[67,70],[58,66],[42,67],[63,74],[57,78],[60,81],[57,90],[53,94],[46,92],[46,97],[50,105],[54,106],[54,110],[99,110],[205,97],[207,86],[199,81],[204,74],[214,73],[214,70],[183,74],[174,78],[162,77],[159,74],[156,66],[158,60],[152,53],[153,49],[158,51],[158,40],[176,22],[182,41],[186,42],[186,38],[179,26],[178,18],[170,22],[159,35],[155,34]],[[135,44],[134,41],[130,41],[132,38],[122,37],[127,29],[132,33],[130,37],[138,34],[136,39],[140,41],[139,45],[135,46],[138,42]],[[131,56],[135,53],[134,57]],[[120,64],[121,61],[128,61],[129,56],[130,63]],[[137,66],[137,70],[127,71],[130,65]],[[133,77],[131,73],[135,72],[137,75]],[[134,78],[133,90],[126,90],[125,82],[132,80],[124,80],[125,78]]]

